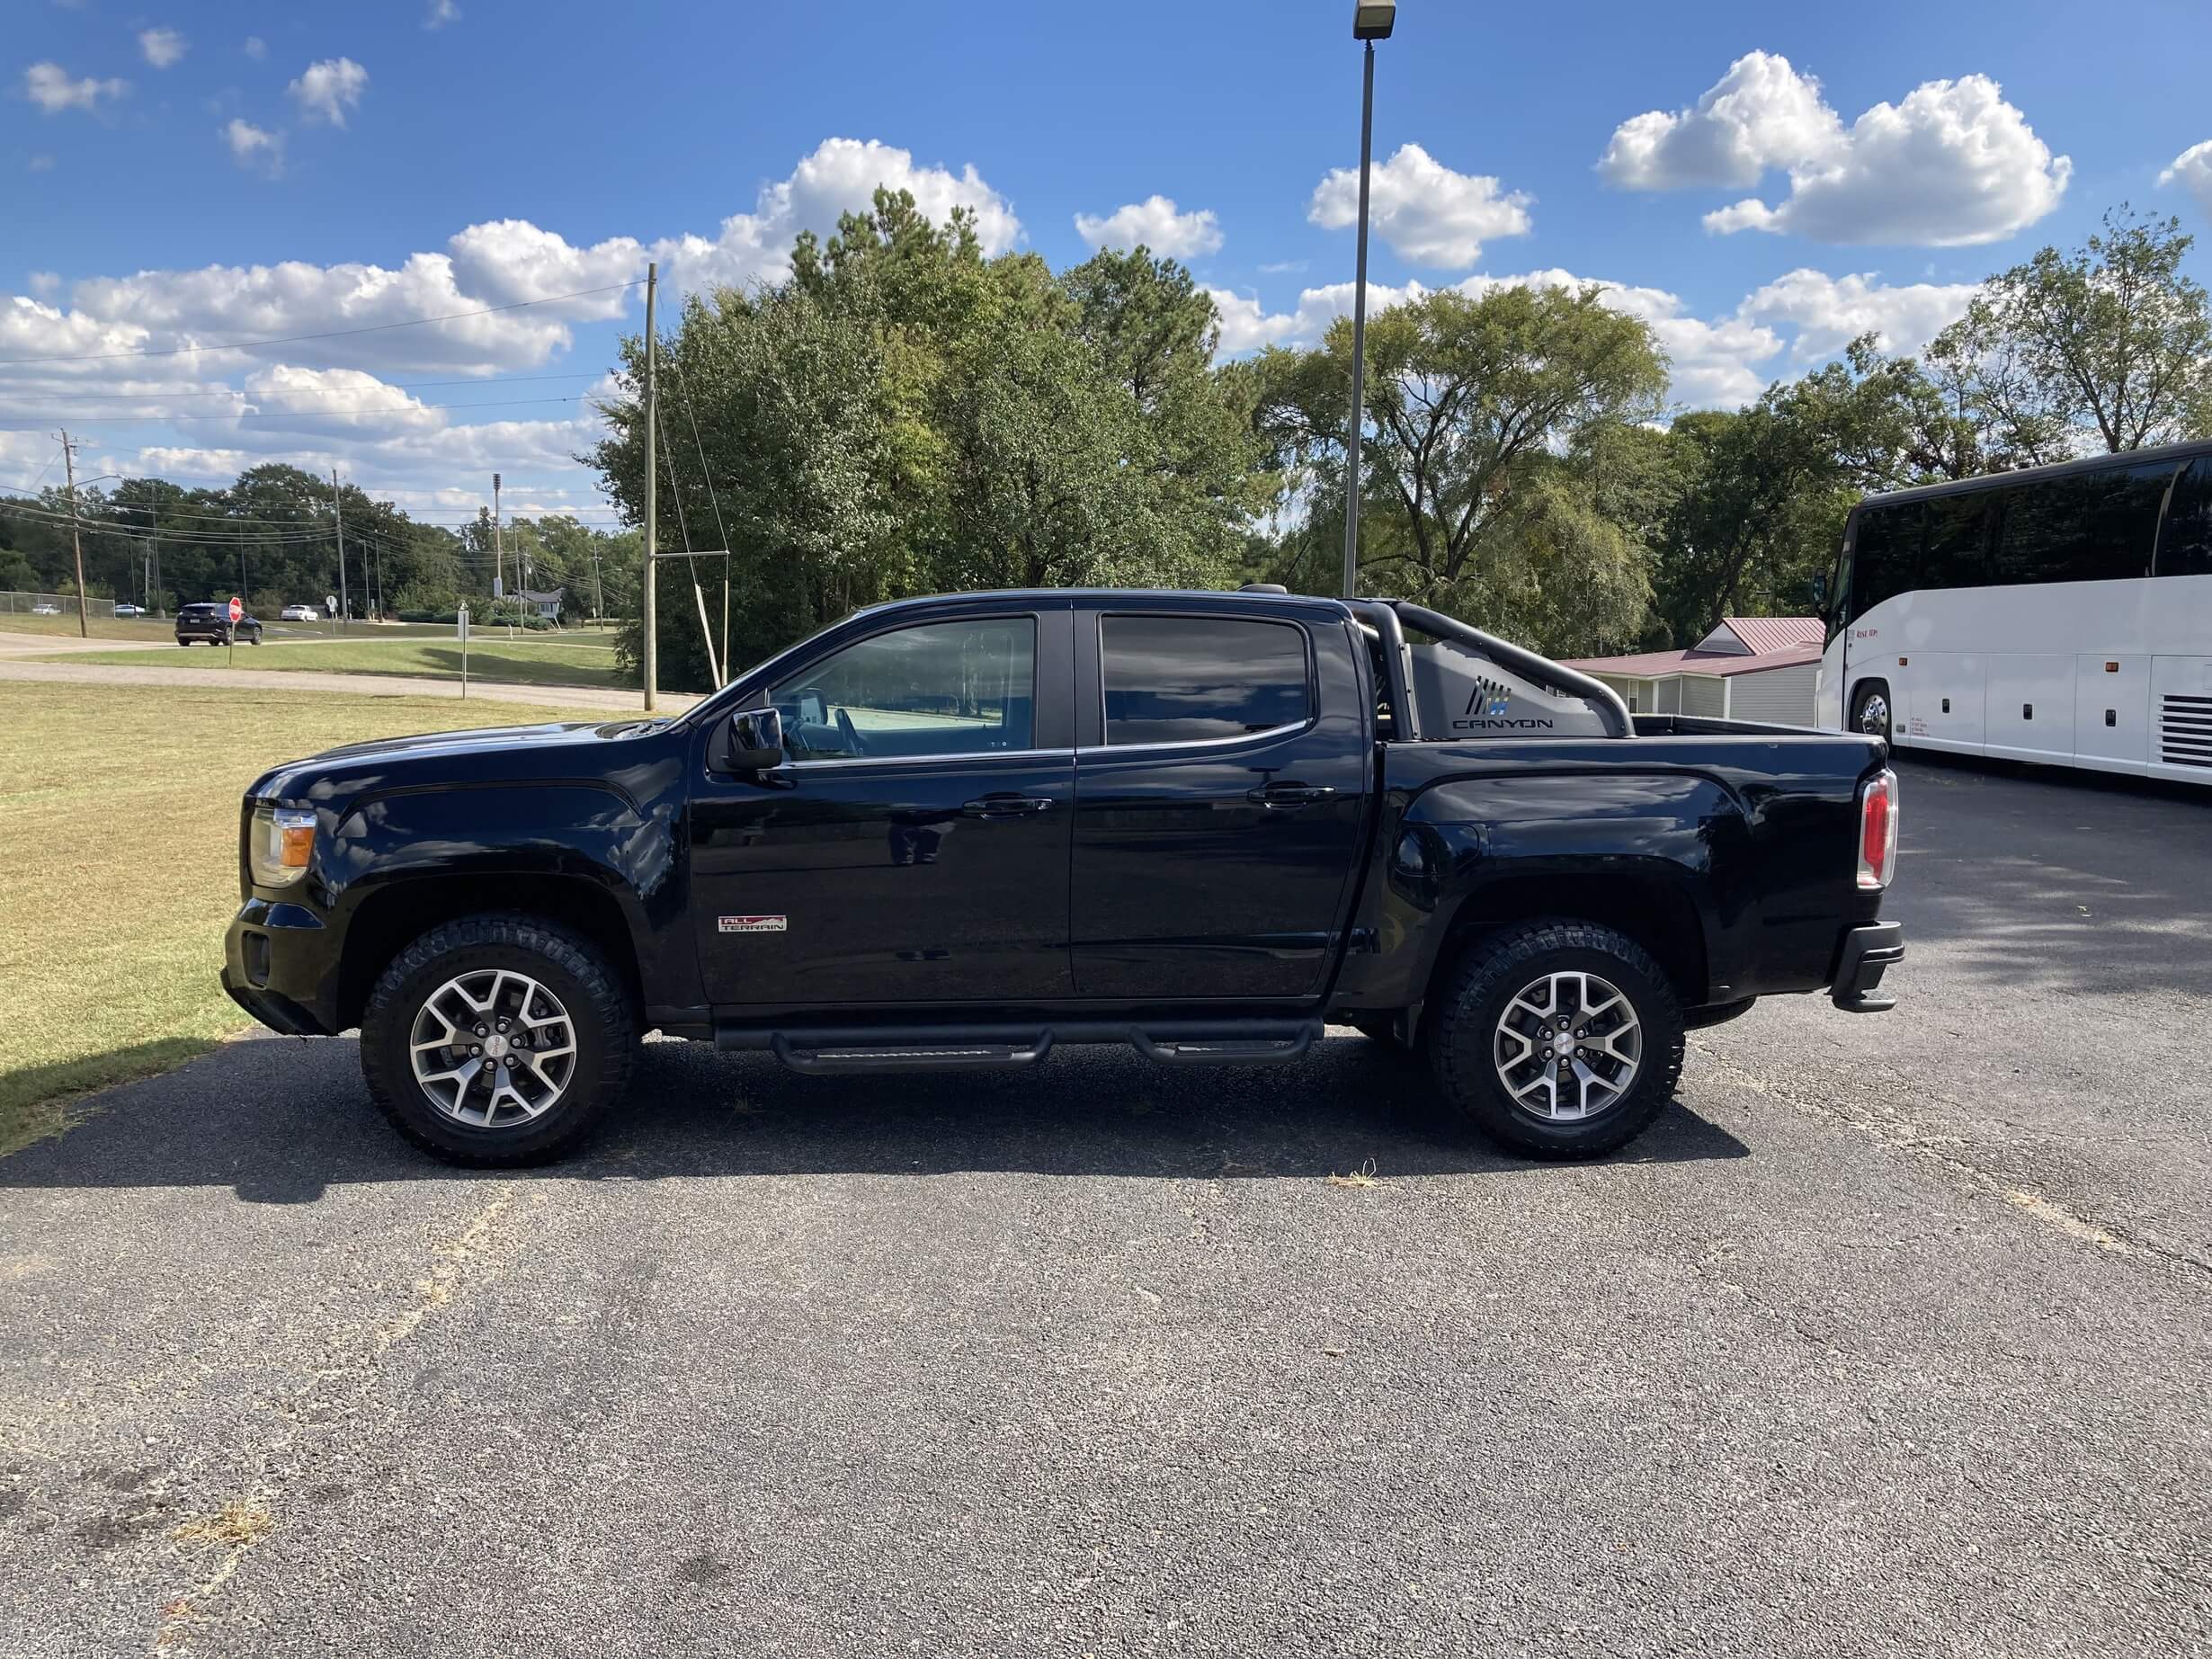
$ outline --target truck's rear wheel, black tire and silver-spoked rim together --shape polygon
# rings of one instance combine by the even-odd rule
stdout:
[[[1626,933],[1528,922],[1478,945],[1429,1024],[1444,1097],[1535,1157],[1597,1157],[1635,1139],[1681,1077],[1674,987]]]

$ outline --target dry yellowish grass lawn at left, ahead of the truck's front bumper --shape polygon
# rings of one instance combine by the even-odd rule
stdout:
[[[263,768],[372,737],[544,719],[575,712],[7,686],[0,1155],[66,1128],[69,1095],[166,1071],[250,1024],[215,975],[239,907],[239,796]]]

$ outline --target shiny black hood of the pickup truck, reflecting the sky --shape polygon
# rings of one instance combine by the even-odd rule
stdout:
[[[301,761],[272,765],[246,792],[257,801],[343,801],[365,790],[425,783],[524,783],[599,776],[617,745],[659,737],[661,719],[560,721],[487,726],[467,732],[420,732],[345,743]]]

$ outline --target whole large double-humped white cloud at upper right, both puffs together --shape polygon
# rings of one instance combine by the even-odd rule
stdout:
[[[1790,175],[1778,204],[1745,197],[1708,212],[1705,228],[1964,248],[2035,223],[2073,177],[1989,75],[1922,82],[1845,126],[1820,82],[1756,51],[1694,108],[1624,122],[1597,161],[1608,184],[1635,190],[1741,188],[1774,168]]]

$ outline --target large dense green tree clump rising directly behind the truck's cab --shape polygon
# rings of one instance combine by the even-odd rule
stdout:
[[[730,624],[684,562],[659,575],[659,677],[701,688],[914,593],[1013,584],[1219,584],[1243,557],[1256,442],[1212,365],[1212,301],[1172,261],[1055,276],[984,259],[973,223],[878,190],[792,276],[695,294],[659,343],[664,551],[730,549]],[[644,343],[593,453],[644,513]],[[719,588],[721,564],[701,564]],[[699,613],[708,622],[701,628]],[[641,626],[619,653],[635,666]]]

